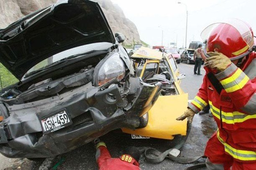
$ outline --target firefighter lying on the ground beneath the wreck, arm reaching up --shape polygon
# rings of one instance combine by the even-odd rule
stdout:
[[[99,170],[140,170],[138,160],[140,152],[135,147],[125,149],[120,158],[111,158],[111,155],[104,142],[99,139],[94,140],[96,145],[96,160]]]

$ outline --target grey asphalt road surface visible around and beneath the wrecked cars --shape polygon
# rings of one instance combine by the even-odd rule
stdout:
[[[184,92],[189,93],[189,99],[193,99],[199,89],[203,75],[205,71],[201,70],[203,75],[194,75],[193,67],[194,65],[187,65],[184,63],[178,64],[179,71],[186,74],[186,78],[182,80],[181,87]],[[195,115],[192,130],[188,136],[187,142],[182,148],[181,156],[197,156],[202,155],[207,140],[210,138],[212,133],[216,130],[215,122],[213,118],[208,115]],[[113,157],[118,157],[122,154],[123,148],[127,146],[137,146],[137,147],[153,147],[163,152],[169,148],[172,148],[179,140],[160,140],[160,139],[131,139],[131,135],[124,134],[120,130],[115,130],[101,137],[101,140],[105,141]],[[0,157],[0,162],[1,161]],[[2,158],[3,159],[3,158]],[[52,165],[56,165],[58,161],[61,160],[61,165],[59,165],[57,170],[97,170],[97,164],[95,162],[95,149],[91,143],[82,146],[76,150],[69,153],[59,155]],[[200,160],[200,161],[203,161]],[[6,170],[11,169],[35,169],[42,164],[42,161],[30,161],[27,159],[17,160],[15,159],[15,164],[6,168]],[[150,164],[141,159],[141,169],[142,170],[182,170],[186,168],[187,165],[178,164],[170,160],[164,160],[160,164]],[[1,168],[0,168],[1,169]]]

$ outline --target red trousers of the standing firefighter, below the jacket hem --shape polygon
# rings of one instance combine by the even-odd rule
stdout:
[[[224,170],[256,170],[255,161],[238,161],[225,152],[224,145],[220,143],[216,133],[208,140],[205,148],[205,156],[212,164],[223,164]]]

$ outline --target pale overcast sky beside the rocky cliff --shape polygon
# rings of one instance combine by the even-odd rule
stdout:
[[[185,46],[186,6],[188,29],[187,47],[191,41],[201,41],[200,33],[210,25],[228,18],[238,18],[249,23],[256,31],[256,0],[112,0],[125,16],[138,28],[141,40],[149,45],[176,42]],[[256,34],[256,32],[255,32]]]

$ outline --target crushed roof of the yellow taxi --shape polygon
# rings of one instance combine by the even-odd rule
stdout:
[[[131,56],[131,58],[145,58],[145,59],[153,59],[153,60],[162,60],[163,59],[163,53],[159,52],[157,50],[147,48],[147,47],[141,47],[139,48],[134,54]]]

